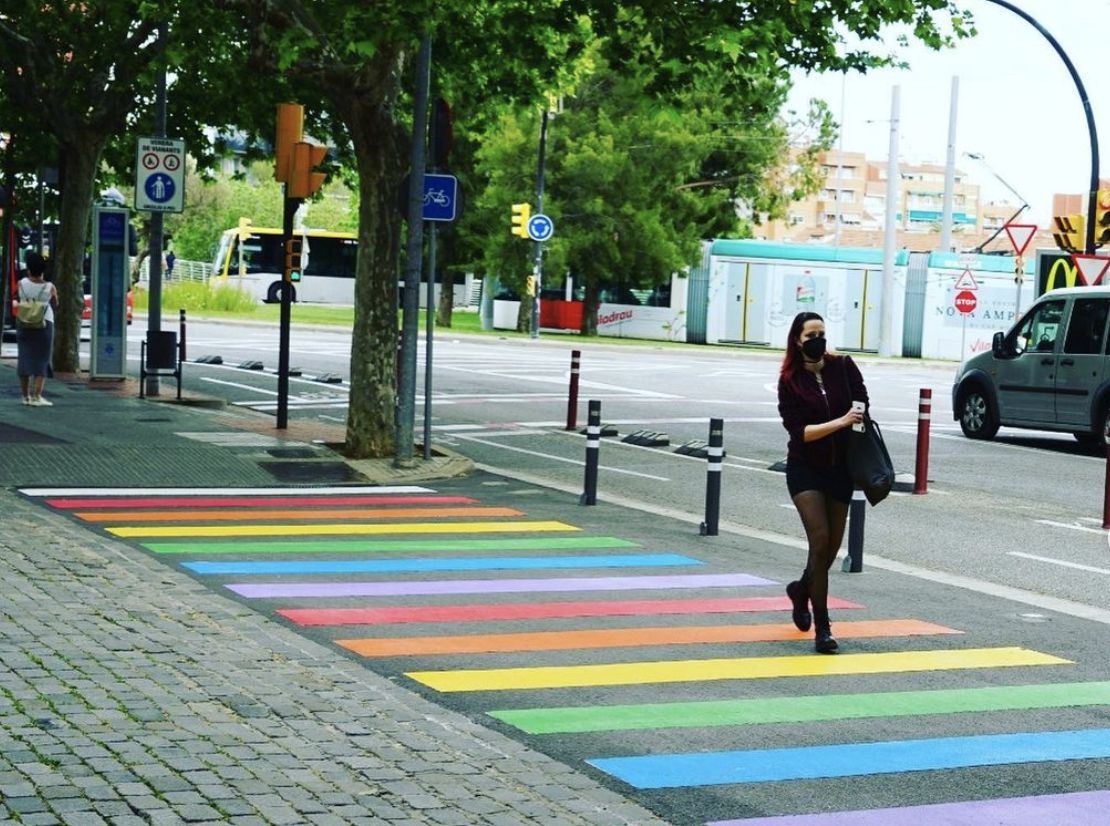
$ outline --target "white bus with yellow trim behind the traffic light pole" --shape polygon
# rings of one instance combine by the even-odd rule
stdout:
[[[281,300],[282,271],[285,250],[282,231],[251,226],[242,243],[239,230],[226,230],[212,262],[214,283],[239,285],[259,301]],[[320,304],[354,304],[354,272],[359,255],[359,239],[353,232],[295,230],[304,242],[301,280],[293,284],[293,301]]]

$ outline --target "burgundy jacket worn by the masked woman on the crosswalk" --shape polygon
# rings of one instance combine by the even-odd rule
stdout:
[[[811,467],[844,463],[849,431],[846,427],[815,442],[806,442],[806,425],[839,419],[848,412],[854,400],[868,402],[864,376],[851,356],[826,356],[821,379],[824,393],[817,379],[805,367],[778,380],[778,413],[783,416],[783,426],[790,434],[786,445],[787,460]]]

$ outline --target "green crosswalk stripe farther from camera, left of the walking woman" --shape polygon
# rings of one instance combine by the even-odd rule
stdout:
[[[349,554],[441,551],[567,551],[639,547],[616,536],[522,536],[516,540],[311,540],[283,542],[144,542],[155,554]]]

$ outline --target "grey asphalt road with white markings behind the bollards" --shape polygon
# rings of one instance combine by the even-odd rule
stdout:
[[[132,336],[141,336],[141,330]],[[137,353],[138,342],[132,341]],[[705,462],[674,453],[725,421],[723,522],[800,537],[785,482],[771,466],[785,454],[775,383],[780,354],[720,347],[662,347],[457,336],[437,331],[433,346],[432,433],[436,444],[490,467],[581,490],[584,439],[565,430],[571,350],[583,351],[578,426],[586,401],[602,402],[598,490],[605,497],[702,518]],[[276,330],[191,322],[189,359],[220,355],[222,365],[190,363],[186,384],[231,404],[273,413]],[[416,433],[423,431],[423,359],[417,375]],[[263,371],[239,364],[261,361]],[[346,385],[314,376],[349,376],[349,335],[294,329],[290,415],[342,423]],[[1106,460],[1069,434],[1003,429],[989,443],[962,436],[951,420],[955,364],[857,357],[900,474],[916,463],[919,390],[932,390],[927,495],[895,494],[868,508],[867,555],[1001,586],[1107,607],[1092,583],[1110,575],[1101,528]],[[620,442],[637,430],[664,432],[667,447]],[[909,476],[907,475],[906,479]]]

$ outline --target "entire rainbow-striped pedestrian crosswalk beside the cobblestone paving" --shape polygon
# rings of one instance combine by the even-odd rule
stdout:
[[[1021,639],[985,646],[972,628],[839,598],[837,636],[859,647],[817,656],[789,622],[780,582],[688,547],[648,548],[658,543],[423,486],[22,493],[317,629],[445,704],[462,698],[539,749],[585,737],[584,765],[635,794],[1110,759],[1110,723],[992,727],[997,715],[1035,711],[1102,709],[1104,719],[1110,681],[1074,679],[1072,659]],[[901,683],[842,691],[862,678]],[[981,716],[973,734],[944,727],[960,715]],[[916,734],[881,736],[884,721]],[[753,734],[774,725],[841,734],[760,745]],[[686,733],[694,749],[668,745],[668,732]],[[714,795],[714,805],[728,799]],[[997,822],[1032,826],[1101,816],[1108,804],[1096,789],[715,823],[1005,816]]]

